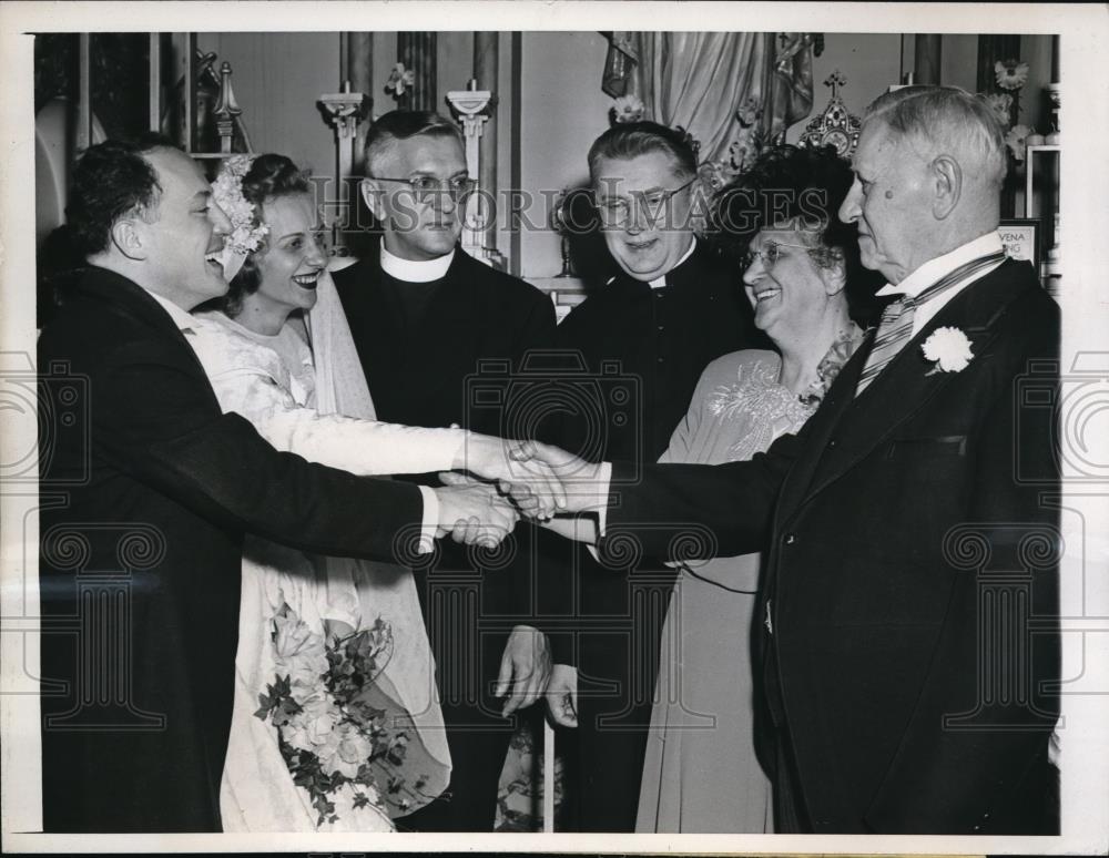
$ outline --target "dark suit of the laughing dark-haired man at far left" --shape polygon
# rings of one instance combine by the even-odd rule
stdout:
[[[387,559],[418,489],[221,413],[165,310],[101,268],[42,331],[39,369],[44,827],[218,831],[244,531]]]

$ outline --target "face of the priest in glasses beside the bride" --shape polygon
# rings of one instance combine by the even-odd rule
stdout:
[[[454,136],[417,134],[394,140],[375,159],[374,176],[406,180],[363,183],[370,211],[385,229],[385,249],[401,259],[427,261],[446,256],[462,232],[464,206],[445,190],[421,200],[407,180],[425,176],[439,182],[467,177],[466,155]]]

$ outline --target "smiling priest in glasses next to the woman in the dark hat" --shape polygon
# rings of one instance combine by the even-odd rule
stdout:
[[[560,349],[598,379],[598,398],[578,409],[568,401],[577,413],[564,416],[558,442],[594,461],[654,462],[712,360],[772,346],[754,327],[742,272],[693,233],[703,196],[685,134],[654,122],[617,124],[593,143],[588,163],[614,276],[559,325]],[[576,378],[571,371],[567,381]],[[601,568],[558,544],[543,559],[550,571],[541,589],[564,596],[546,612],[572,621],[550,635],[548,702],[557,723],[577,727],[564,737],[579,744],[576,827],[633,831],[674,572],[658,562]]]

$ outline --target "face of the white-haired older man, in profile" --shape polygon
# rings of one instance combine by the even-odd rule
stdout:
[[[852,166],[855,181],[840,219],[858,223],[863,265],[901,283],[935,255],[928,249],[935,224],[922,146],[875,120],[863,129]]]

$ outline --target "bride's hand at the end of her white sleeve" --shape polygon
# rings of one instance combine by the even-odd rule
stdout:
[[[512,499],[517,505],[531,518],[547,520],[566,508],[566,491],[554,469],[542,459],[522,453],[525,447],[521,441],[470,432],[455,460],[455,470],[518,484]]]

